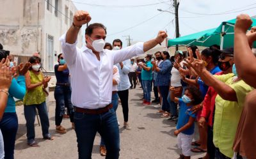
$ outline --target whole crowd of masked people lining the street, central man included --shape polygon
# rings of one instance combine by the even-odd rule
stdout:
[[[54,66],[56,132],[67,133],[61,126],[67,108],[76,131],[79,158],[92,157],[97,132],[101,136],[100,155],[119,158],[118,100],[123,126],[132,130],[128,123],[129,89],[139,83],[143,90],[141,105],[159,109],[159,116],[177,125],[174,135],[182,150],[180,159],[191,158],[191,152],[205,153],[204,159],[256,158],[256,57],[252,52],[256,27],[250,29],[252,20],[248,15],[237,17],[234,47],[220,49],[214,44],[200,52],[195,45],[189,45],[186,52],[177,50],[172,57],[167,51],[157,51],[146,54],[144,59],[134,57],[163,42],[167,37],[164,31],[159,31],[154,40],[123,49],[119,39],[112,45],[106,43],[106,27],[94,23],[86,27],[86,46],[78,49],[79,29],[90,20],[88,12],[77,11],[72,26],[60,38],[63,54],[58,55]],[[16,64],[0,45],[0,61],[0,158],[14,158],[18,130],[14,98],[24,103],[28,145],[38,146],[36,113],[42,123],[42,137],[54,139],[49,133],[45,102],[45,88],[51,77],[40,69],[38,54],[26,63]],[[196,121],[199,139],[193,142]]]

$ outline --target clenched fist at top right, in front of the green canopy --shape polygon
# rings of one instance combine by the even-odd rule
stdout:
[[[236,18],[235,31],[243,31],[244,33],[246,33],[246,31],[250,28],[251,25],[252,19],[249,15],[238,15]]]

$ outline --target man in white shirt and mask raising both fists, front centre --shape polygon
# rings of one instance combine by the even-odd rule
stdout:
[[[115,110],[111,103],[113,64],[143,54],[167,37],[159,31],[157,38],[137,43],[122,50],[103,49],[106,27],[94,23],[86,27],[86,46],[76,47],[77,34],[83,24],[90,22],[87,11],[77,11],[72,26],[61,36],[61,47],[72,74],[71,101],[75,107],[74,123],[79,159],[92,158],[95,135],[100,133],[108,151],[106,158],[119,158],[120,137]]]

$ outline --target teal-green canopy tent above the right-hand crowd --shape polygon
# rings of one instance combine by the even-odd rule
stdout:
[[[256,26],[256,19],[252,20],[252,26]],[[228,20],[227,22],[222,22],[219,27],[168,40],[168,47],[174,45],[196,45],[209,47],[214,44],[220,45],[221,49],[233,47],[235,23],[236,19]],[[255,43],[253,46],[256,47]]]

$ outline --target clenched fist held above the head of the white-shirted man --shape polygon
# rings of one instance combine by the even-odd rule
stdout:
[[[78,10],[76,11],[74,18],[73,18],[73,23],[75,26],[83,26],[83,24],[86,24],[90,22],[92,18],[90,17],[90,14],[87,11],[83,10]]]

